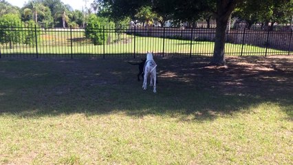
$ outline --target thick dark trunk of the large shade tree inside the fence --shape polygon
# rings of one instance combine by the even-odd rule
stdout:
[[[230,14],[235,9],[237,0],[227,1],[218,0],[217,1],[217,14],[216,14],[216,36],[215,36],[215,47],[213,58],[210,61],[210,65],[226,65],[224,58],[225,55],[225,38],[226,38],[226,28]]]

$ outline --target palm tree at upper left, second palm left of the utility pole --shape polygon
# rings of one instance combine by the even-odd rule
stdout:
[[[34,23],[38,23],[38,14],[45,14],[45,5],[37,1],[29,1],[28,8],[25,8],[23,12],[25,17],[28,17],[29,14],[32,14]]]

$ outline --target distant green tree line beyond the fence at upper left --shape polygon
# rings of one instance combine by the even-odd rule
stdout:
[[[23,22],[32,20],[39,25],[60,28],[80,27],[85,21],[83,11],[73,10],[61,0],[30,0],[22,8],[0,0],[0,17],[5,14],[16,14]]]

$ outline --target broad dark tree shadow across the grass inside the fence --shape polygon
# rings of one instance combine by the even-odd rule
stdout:
[[[292,58],[155,58],[158,94],[142,90],[133,59],[0,61],[0,114],[38,118],[71,113],[168,115],[182,121],[245,113],[264,102],[280,104],[292,120]],[[148,82],[149,83],[149,82]]]

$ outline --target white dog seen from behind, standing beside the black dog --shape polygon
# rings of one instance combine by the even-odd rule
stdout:
[[[146,80],[149,75],[151,75],[151,82],[149,86],[153,86],[153,92],[156,91],[156,81],[157,81],[157,64],[153,60],[153,52],[146,54],[146,63],[144,63],[144,83],[142,84],[142,89],[146,90]]]

